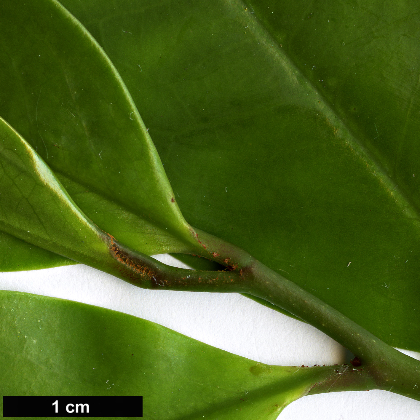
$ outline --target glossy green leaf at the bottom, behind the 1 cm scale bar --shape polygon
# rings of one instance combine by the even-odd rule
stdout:
[[[131,315],[0,291],[2,395],[142,395],[147,419],[276,419],[335,367],[257,363]]]

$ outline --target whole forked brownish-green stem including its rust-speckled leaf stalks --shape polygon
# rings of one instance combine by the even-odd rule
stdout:
[[[265,299],[338,341],[361,362],[343,381],[323,381],[313,392],[352,389],[383,389],[420,400],[420,362],[384,343],[333,307],[255,260],[244,250],[202,231],[197,239],[202,255],[230,271],[185,270],[170,267],[134,252],[113,238],[110,259],[97,268],[147,289],[249,293]],[[344,374],[344,373],[341,373]],[[344,378],[349,378],[344,381]],[[350,385],[349,385],[350,384]]]

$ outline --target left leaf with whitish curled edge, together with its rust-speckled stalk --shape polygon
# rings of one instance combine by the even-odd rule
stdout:
[[[0,231],[28,244],[146,289],[249,290],[236,271],[174,268],[120,244],[81,212],[37,152],[2,118],[0,191]]]

